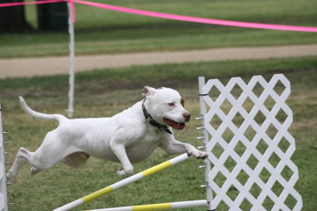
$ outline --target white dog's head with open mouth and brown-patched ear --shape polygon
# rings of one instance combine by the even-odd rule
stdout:
[[[144,87],[142,96],[146,98],[144,105],[147,112],[159,124],[180,130],[184,129],[185,122],[189,122],[190,114],[185,110],[184,100],[178,91],[165,87]]]

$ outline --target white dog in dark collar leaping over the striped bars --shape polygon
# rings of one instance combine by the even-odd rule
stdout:
[[[42,145],[34,153],[20,148],[11,170],[6,175],[12,182],[21,162],[32,165],[31,174],[54,167],[63,162],[70,167],[82,167],[90,156],[121,162],[123,169],[116,172],[121,177],[133,173],[131,163],[140,162],[151,155],[156,147],[168,155],[186,153],[205,159],[208,154],[198,151],[188,143],[176,141],[172,129],[183,129],[190,114],[178,91],[168,88],[144,87],[144,101],[110,118],[68,120],[63,115],[37,113],[30,109],[22,97],[20,104],[25,113],[42,120],[58,120],[54,131],[46,134]]]

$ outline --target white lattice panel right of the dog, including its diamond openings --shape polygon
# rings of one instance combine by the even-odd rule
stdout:
[[[290,160],[295,142],[287,132],[292,110],[285,103],[290,95],[286,77],[274,75],[266,82],[255,76],[249,84],[235,77],[226,86],[211,79],[200,87],[202,99],[210,107],[202,113],[202,127],[211,136],[205,141],[211,162],[207,173],[213,191],[210,209],[221,204],[235,211],[242,207],[301,210],[302,197],[294,189],[298,169]],[[282,89],[280,95],[276,87]],[[256,95],[259,88],[263,91]],[[218,97],[213,97],[213,90],[220,92]],[[240,93],[232,94],[237,90]]]

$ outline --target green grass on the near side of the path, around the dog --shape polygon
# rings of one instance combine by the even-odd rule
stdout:
[[[75,117],[109,117],[142,100],[141,90],[145,85],[153,87],[171,87],[178,89],[185,98],[185,106],[192,113],[192,121],[187,127],[174,132],[175,138],[200,146],[196,139],[199,131],[196,127],[200,122],[197,76],[205,75],[206,79],[218,78],[226,83],[230,77],[242,77],[248,82],[253,75],[263,75],[267,80],[273,74],[282,73],[290,80],[292,94],[287,99],[287,105],[293,110],[294,122],[288,130],[296,140],[297,150],[292,155],[292,161],[299,167],[299,181],[295,188],[302,195],[303,210],[316,210],[316,105],[317,105],[317,63],[316,57],[288,58],[271,60],[242,60],[211,63],[185,63],[168,65],[133,66],[107,70],[94,70],[76,74],[75,87]],[[6,162],[13,162],[18,148],[23,146],[35,151],[46,132],[55,129],[56,122],[44,122],[26,115],[20,109],[18,96],[24,96],[31,108],[43,113],[62,113],[67,105],[68,76],[33,77],[0,80],[2,120],[6,145]],[[234,90],[235,94],[239,90]],[[215,96],[213,96],[215,97]],[[268,103],[268,107],[272,106]],[[228,111],[225,106],[224,110]],[[280,115],[280,121],[285,118]],[[236,120],[239,124],[240,119]],[[263,121],[261,115],[256,121]],[[217,120],[213,123],[217,127]],[[269,134],[271,135],[271,134]],[[248,137],[254,136],[251,132]],[[225,133],[225,139],[232,134]],[[287,144],[280,146],[282,150]],[[242,146],[237,147],[237,153],[242,153]],[[263,153],[265,144],[260,143],[258,149]],[[216,156],[220,150],[213,151]],[[147,160],[134,165],[135,172],[141,172],[149,167],[164,162],[173,156],[167,156],[161,149],[156,150]],[[229,160],[230,161],[230,160]],[[276,165],[276,160],[270,160]],[[142,205],[150,203],[165,203],[182,200],[199,200],[205,198],[204,171],[198,166],[202,161],[189,159],[174,167],[154,174],[146,179],[130,184],[125,188],[109,193],[107,196],[82,205],[75,210],[98,209],[103,207],[118,207]],[[254,167],[252,160],[248,163]],[[234,163],[225,164],[232,169]],[[7,170],[10,166],[7,166]],[[20,210],[53,210],[77,198],[104,188],[120,180],[115,170],[120,164],[91,158],[87,167],[72,169],[58,164],[51,170],[41,172],[35,177],[30,175],[30,165],[22,165],[15,182],[8,186],[8,200],[15,205],[11,211]],[[290,177],[290,172],[282,172],[283,177]],[[268,180],[268,172],[261,173],[263,181]],[[239,180],[245,182],[246,175],[240,174]],[[222,184],[224,178],[217,177],[217,184]],[[275,193],[280,193],[280,186],[274,186]],[[251,194],[259,194],[259,188],[251,189]],[[230,188],[230,197],[237,196],[237,190]],[[266,207],[271,210],[272,203],[266,201]],[[294,200],[287,199],[287,205],[294,205]],[[217,210],[226,210],[221,204]],[[250,208],[247,202],[242,210]],[[186,210],[205,210],[204,207]]]

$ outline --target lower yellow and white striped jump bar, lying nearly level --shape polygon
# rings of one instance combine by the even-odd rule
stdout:
[[[130,207],[115,207],[99,210],[86,210],[86,211],[144,211],[144,210],[173,210],[189,207],[204,207],[208,205],[207,200],[189,200],[176,203],[163,203],[154,205],[139,205]]]

